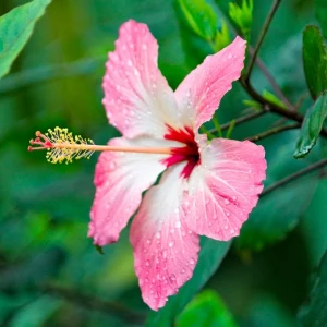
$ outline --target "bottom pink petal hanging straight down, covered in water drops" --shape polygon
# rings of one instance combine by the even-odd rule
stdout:
[[[145,195],[132,222],[131,243],[142,296],[153,310],[166,304],[192,276],[198,235],[184,225],[181,209],[184,164],[169,168]]]

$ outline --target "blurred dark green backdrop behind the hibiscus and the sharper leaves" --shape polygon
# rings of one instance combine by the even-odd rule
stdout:
[[[0,15],[26,2],[1,0]],[[230,1],[208,2],[218,17],[226,16]],[[270,5],[254,0],[253,45]],[[55,166],[43,153],[27,152],[35,131],[57,125],[98,144],[119,135],[105,116],[101,78],[107,52],[129,19],[148,24],[158,39],[159,66],[173,88],[207,55],[201,44],[199,51],[187,52],[190,40],[181,33],[173,0],[53,0],[0,81],[1,326],[134,326],[141,324],[138,314],[148,313],[129,231],[104,249],[105,255],[86,238],[97,156]],[[291,101],[305,96],[303,110],[311,104],[301,62],[308,23],[316,23],[314,1],[282,1],[259,53]],[[259,71],[253,77],[257,89],[271,92]],[[249,97],[234,83],[219,121],[242,116],[243,99]],[[232,136],[242,140],[278,120],[265,116],[237,128]],[[266,185],[322,156],[318,144],[307,159],[293,159],[296,137],[298,131],[289,131],[262,142],[269,164]],[[257,223],[244,228],[243,239],[205,286],[219,294],[238,325],[293,326],[327,245],[326,192],[326,179],[314,174],[259,203],[253,216]],[[228,324],[221,326],[234,326]]]

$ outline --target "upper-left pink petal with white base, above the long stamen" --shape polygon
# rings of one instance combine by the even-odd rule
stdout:
[[[179,126],[173,92],[157,59],[157,41],[145,24],[129,21],[120,27],[116,51],[106,64],[104,105],[109,122],[129,138],[162,137],[166,123]]]

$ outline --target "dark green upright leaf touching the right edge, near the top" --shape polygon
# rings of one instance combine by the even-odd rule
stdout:
[[[316,99],[327,89],[327,52],[319,28],[313,25],[303,32],[303,65],[307,87]]]

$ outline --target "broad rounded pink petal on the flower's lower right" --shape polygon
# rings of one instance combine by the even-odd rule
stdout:
[[[190,177],[184,203],[187,226],[199,234],[228,241],[258,201],[266,178],[265,150],[249,141],[216,138],[202,144],[202,165]]]

